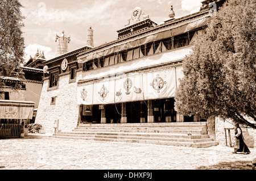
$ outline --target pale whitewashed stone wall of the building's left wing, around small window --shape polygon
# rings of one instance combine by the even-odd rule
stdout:
[[[47,91],[49,80],[43,83],[42,94],[38,106],[35,123],[41,124],[46,133],[54,132],[54,122],[59,119],[59,131],[72,131],[79,116],[77,104],[77,81],[81,79],[81,71],[77,72],[76,82],[69,83],[69,74],[59,77],[59,88]],[[55,105],[51,98],[56,96]]]

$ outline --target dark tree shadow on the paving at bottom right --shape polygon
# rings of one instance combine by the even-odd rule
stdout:
[[[216,165],[200,166],[197,170],[252,170],[250,161],[221,162]]]

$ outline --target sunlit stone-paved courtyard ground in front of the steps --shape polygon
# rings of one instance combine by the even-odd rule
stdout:
[[[256,158],[255,148],[245,155],[220,145],[196,149],[40,137],[0,140],[0,170],[251,170]]]

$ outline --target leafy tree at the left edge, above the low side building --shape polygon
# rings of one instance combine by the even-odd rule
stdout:
[[[0,0],[0,70],[3,77],[11,73],[24,61],[24,38],[21,28],[24,18],[18,0]],[[0,86],[5,85],[1,79]]]

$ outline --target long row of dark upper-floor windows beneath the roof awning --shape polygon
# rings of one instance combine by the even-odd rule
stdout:
[[[152,54],[165,52],[167,50],[185,47],[189,45],[189,42],[191,41],[194,33],[195,31],[189,32],[189,34],[184,33],[182,35],[175,36],[174,38],[170,37],[168,39],[152,41],[145,45],[141,45],[140,47],[110,54],[106,57],[97,58],[92,61],[85,62],[82,70],[88,71],[103,68],[106,66],[119,64],[121,62],[141,58],[144,56],[150,56]]]

